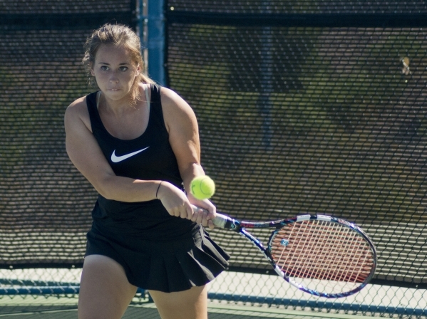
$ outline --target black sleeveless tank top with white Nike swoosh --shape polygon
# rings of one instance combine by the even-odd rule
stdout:
[[[93,136],[118,176],[164,180],[182,188],[178,162],[169,143],[163,119],[160,87],[151,86],[150,117],[140,137],[120,140],[104,127],[96,106],[96,92],[86,96]],[[98,195],[92,211],[93,226],[106,236],[123,234],[140,239],[180,239],[195,234],[199,226],[170,216],[158,199],[148,202],[118,202]]]

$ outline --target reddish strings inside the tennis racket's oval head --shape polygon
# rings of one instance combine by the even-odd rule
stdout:
[[[283,239],[289,244],[283,245]],[[329,221],[302,221],[280,229],[272,257],[288,277],[363,283],[373,256],[356,231]]]

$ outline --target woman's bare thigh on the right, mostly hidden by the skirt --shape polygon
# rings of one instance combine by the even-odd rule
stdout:
[[[207,319],[206,286],[178,293],[149,292],[162,319]]]

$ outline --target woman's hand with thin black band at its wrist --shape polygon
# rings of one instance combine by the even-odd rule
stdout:
[[[192,206],[185,193],[175,185],[163,181],[158,188],[157,198],[160,199],[170,215],[183,219],[192,219],[194,214]]]

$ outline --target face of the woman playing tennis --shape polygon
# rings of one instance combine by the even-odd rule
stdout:
[[[127,98],[140,66],[133,63],[124,46],[101,44],[96,52],[91,73],[106,98],[121,100]]]

